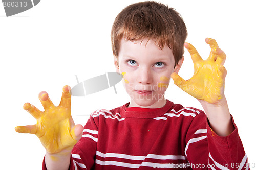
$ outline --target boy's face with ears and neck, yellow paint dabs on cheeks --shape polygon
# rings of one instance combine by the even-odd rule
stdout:
[[[123,75],[125,90],[131,97],[129,107],[147,108],[165,105],[164,93],[170,75],[179,71],[184,59],[174,68],[173,51],[167,45],[161,50],[152,39],[132,42],[124,38],[120,44],[118,66],[114,58],[116,70]]]

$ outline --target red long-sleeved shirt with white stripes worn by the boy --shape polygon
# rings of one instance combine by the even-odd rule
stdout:
[[[158,109],[128,105],[91,114],[70,169],[248,169],[234,123],[233,133],[221,137],[201,110],[168,100]]]

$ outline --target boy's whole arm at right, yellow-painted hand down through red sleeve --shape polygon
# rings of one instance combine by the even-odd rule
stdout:
[[[185,81],[179,75],[173,73],[174,83],[188,94],[199,100],[206,113],[206,129],[202,125],[202,119],[195,119],[191,123],[187,133],[187,159],[190,163],[198,163],[197,158],[207,157],[197,156],[198,148],[200,152],[208,154],[209,166],[225,169],[225,167],[235,169],[241,165],[241,169],[246,169],[247,156],[244,152],[243,144],[239,138],[238,130],[228,110],[227,101],[224,95],[224,84],[227,71],[223,66],[226,55],[218,47],[214,39],[206,39],[211,47],[210,56],[203,60],[196,48],[185,43],[194,63],[195,72],[191,79]],[[182,88],[189,87],[189,88]],[[203,120],[205,125],[205,119]],[[201,127],[200,127],[201,126]],[[200,133],[207,132],[206,144],[198,137]],[[204,134],[200,134],[205,136]],[[190,141],[190,142],[189,142]],[[189,144],[190,143],[190,144]],[[204,158],[203,158],[204,157]],[[208,167],[209,168],[209,167]]]

